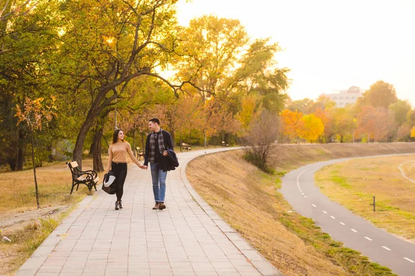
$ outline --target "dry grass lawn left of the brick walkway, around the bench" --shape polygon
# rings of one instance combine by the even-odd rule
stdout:
[[[103,160],[104,164],[107,160]],[[84,170],[91,169],[92,160],[83,160],[82,165]],[[0,236],[12,240],[11,243],[0,243],[0,275],[12,275],[75,204],[91,195],[85,185],[69,195],[71,171],[63,161],[37,168],[36,175],[39,210],[33,170],[0,174]],[[102,179],[102,173],[99,176]]]

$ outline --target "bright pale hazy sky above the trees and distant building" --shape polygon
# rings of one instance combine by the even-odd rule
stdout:
[[[278,42],[294,100],[383,80],[415,107],[415,0],[179,0],[181,25],[203,14]]]

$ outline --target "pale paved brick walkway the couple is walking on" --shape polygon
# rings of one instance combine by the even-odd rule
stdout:
[[[129,168],[122,210],[99,190],[86,197],[37,248],[17,275],[282,275],[193,190],[178,154],[167,174],[165,210],[151,210],[149,170]]]

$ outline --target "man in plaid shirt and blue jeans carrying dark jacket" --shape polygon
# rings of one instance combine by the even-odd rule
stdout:
[[[149,129],[151,132],[147,135],[145,142],[145,169],[150,162],[151,179],[153,180],[153,193],[156,205],[153,210],[164,210],[166,194],[166,177],[167,169],[165,168],[165,157],[168,156],[167,150],[173,150],[172,135],[160,128],[158,118],[149,119]]]

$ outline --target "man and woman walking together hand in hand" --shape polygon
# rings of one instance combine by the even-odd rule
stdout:
[[[125,177],[127,177],[127,155],[143,170],[147,170],[148,164],[150,163],[154,201],[156,201],[153,210],[163,210],[166,208],[167,170],[174,170],[174,168],[167,168],[165,159],[168,157],[176,159],[176,155],[173,152],[172,135],[160,128],[160,120],[158,118],[149,119],[149,129],[151,132],[147,135],[144,164],[142,165],[134,157],[131,145],[127,141],[124,141],[124,132],[120,129],[116,129],[113,132],[112,143],[108,150],[108,166],[105,173],[111,169],[116,177],[116,210],[122,208],[121,198],[124,192]]]

